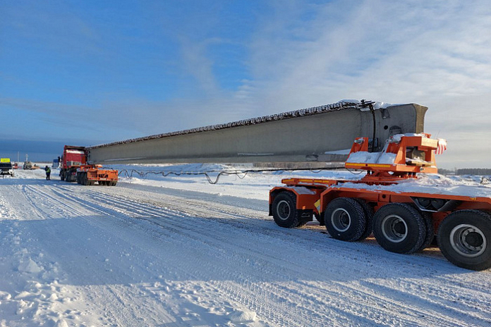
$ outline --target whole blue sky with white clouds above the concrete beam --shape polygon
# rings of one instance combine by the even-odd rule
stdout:
[[[441,167],[491,167],[489,1],[5,0],[0,13],[4,140],[51,154],[373,99],[429,106]]]

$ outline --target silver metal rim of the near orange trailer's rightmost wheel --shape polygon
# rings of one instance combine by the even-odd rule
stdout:
[[[450,232],[450,244],[463,257],[478,257],[486,249],[486,237],[479,228],[461,224]]]

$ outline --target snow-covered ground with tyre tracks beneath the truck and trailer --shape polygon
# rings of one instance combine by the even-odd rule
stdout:
[[[489,270],[267,216],[281,178],[357,175],[248,173],[211,185],[135,172],[162,166],[118,168],[128,177],[116,187],[61,182],[56,170],[50,181],[42,170],[0,178],[0,326],[491,326]],[[420,186],[490,196],[480,181]]]

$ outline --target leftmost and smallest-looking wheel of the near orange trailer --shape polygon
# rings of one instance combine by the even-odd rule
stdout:
[[[297,227],[300,224],[300,217],[296,209],[296,196],[291,192],[279,193],[272,204],[272,214],[274,222],[284,228]]]

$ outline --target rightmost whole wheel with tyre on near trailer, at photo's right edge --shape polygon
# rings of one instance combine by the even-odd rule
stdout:
[[[456,266],[481,271],[491,268],[491,216],[479,210],[449,214],[438,228],[442,254]]]

